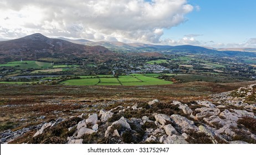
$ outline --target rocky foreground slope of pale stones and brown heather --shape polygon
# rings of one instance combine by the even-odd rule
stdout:
[[[1,143],[256,143],[255,91],[256,84],[186,103],[98,102],[79,116],[41,116],[39,125],[4,131]]]

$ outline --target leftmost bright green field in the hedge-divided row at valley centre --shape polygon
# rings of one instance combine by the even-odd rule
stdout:
[[[98,84],[99,81],[99,79],[74,79],[62,81],[60,84],[72,86],[90,86]]]

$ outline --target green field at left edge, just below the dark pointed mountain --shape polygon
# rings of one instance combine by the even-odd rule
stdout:
[[[7,64],[0,64],[0,67],[14,67],[16,69],[42,69],[50,68],[50,63],[44,63],[39,61],[12,61]]]

